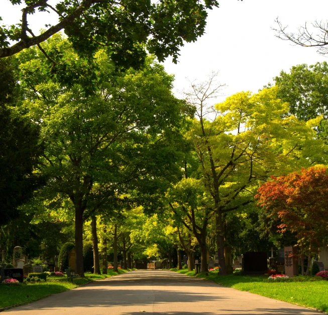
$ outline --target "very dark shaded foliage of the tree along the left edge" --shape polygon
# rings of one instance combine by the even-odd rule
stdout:
[[[20,94],[16,73],[13,58],[0,60],[0,225],[18,217],[17,208],[44,184],[33,172],[42,153],[39,127],[11,107]]]

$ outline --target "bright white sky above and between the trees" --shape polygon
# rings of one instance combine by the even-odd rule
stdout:
[[[57,0],[49,0],[55,4]],[[257,92],[280,70],[296,64],[313,64],[327,58],[315,48],[291,46],[275,37],[274,20],[279,17],[289,31],[296,31],[304,22],[328,20],[327,0],[219,0],[220,8],[209,12],[205,34],[195,43],[181,49],[178,64],[171,59],[164,65],[175,74],[175,92],[188,88],[190,80],[206,79],[212,70],[220,71],[219,80],[228,87],[225,96],[240,91]],[[9,0],[0,0],[0,16],[4,24],[19,23],[20,8]],[[35,33],[47,24],[54,24],[52,14],[37,13],[37,21],[30,23]],[[224,97],[223,97],[224,98]],[[220,100],[223,98],[220,98]]]

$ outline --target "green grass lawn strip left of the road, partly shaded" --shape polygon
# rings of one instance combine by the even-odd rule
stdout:
[[[67,277],[48,277],[47,282],[28,284],[0,284],[0,307],[21,305],[36,301],[49,294],[60,293],[76,288],[94,280],[101,280],[126,273],[128,270],[119,272],[108,271],[107,274],[85,274],[85,278],[74,278],[73,283],[67,281]]]

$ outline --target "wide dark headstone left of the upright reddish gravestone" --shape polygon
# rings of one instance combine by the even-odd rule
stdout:
[[[268,270],[265,252],[247,252],[244,254],[243,267],[245,274],[264,274]]]

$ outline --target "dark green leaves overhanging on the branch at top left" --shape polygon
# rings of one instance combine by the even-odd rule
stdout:
[[[18,3],[12,0],[12,3]],[[21,1],[19,1],[21,3]],[[36,10],[45,11],[43,2],[23,1],[28,11],[28,21],[34,18]],[[194,1],[178,0],[151,2],[141,0],[128,3],[120,0],[115,6],[107,2],[89,0],[78,8],[74,0],[60,1],[56,4],[59,20],[64,21],[71,14],[75,19],[67,22],[65,34],[81,55],[92,56],[101,46],[106,46],[113,60],[126,67],[141,66],[146,51],[155,54],[160,61],[172,55],[173,61],[179,55],[184,42],[194,42],[204,32],[207,10],[218,7],[216,0]],[[1,18],[0,18],[1,21]],[[0,57],[17,52],[11,48],[10,41],[20,41],[22,48],[43,42],[63,27],[53,26],[47,32],[49,36],[37,36],[32,39],[22,30],[22,24],[11,23],[11,27],[0,25]],[[20,47],[20,45],[18,46]],[[49,59],[60,55],[48,53]],[[54,66],[56,67],[56,63]],[[50,67],[49,67],[50,68]]]

